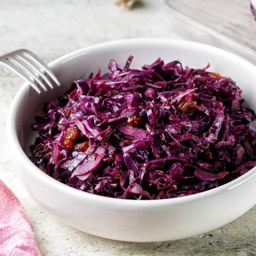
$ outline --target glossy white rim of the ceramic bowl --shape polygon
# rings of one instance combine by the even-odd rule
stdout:
[[[52,62],[49,63],[50,68],[54,68],[55,66],[58,66],[59,64],[65,63],[66,61],[76,58],[80,56],[81,54],[86,54],[87,52],[96,51],[97,49],[101,49],[103,47],[107,48],[109,46],[120,46],[125,44],[144,44],[144,43],[169,43],[170,46],[172,45],[179,45],[179,46],[186,46],[190,48],[198,48],[208,50],[208,51],[214,51],[219,54],[225,54],[226,57],[233,59],[236,62],[239,62],[241,65],[246,65],[250,69],[254,69],[254,72],[256,72],[256,66],[249,61],[239,57],[236,54],[230,53],[226,50],[220,49],[218,47],[210,46],[208,44],[193,42],[193,41],[186,41],[186,40],[180,40],[180,39],[166,39],[166,38],[132,38],[132,39],[121,39],[121,40],[115,40],[110,42],[104,42],[100,44],[95,44],[92,46],[84,47],[79,50],[75,50],[73,52],[70,52],[68,54],[63,55],[62,57],[59,57]],[[15,115],[16,115],[16,109],[19,102],[22,101],[23,97],[26,95],[27,90],[29,89],[29,85],[25,82],[20,89],[17,91],[15,97],[13,98],[8,114],[7,114],[7,121],[6,121],[6,131],[7,131],[7,141],[9,144],[10,151],[16,152],[17,158],[15,158],[15,161],[20,161],[24,169],[26,169],[27,172],[30,173],[32,176],[37,176],[37,178],[41,179],[42,182],[46,182],[49,186],[55,187],[56,189],[62,191],[63,193],[69,193],[77,196],[78,198],[82,200],[87,201],[94,201],[96,203],[101,204],[108,204],[109,206],[114,207],[135,207],[135,208],[155,208],[155,207],[169,207],[169,206],[175,206],[175,205],[183,205],[185,203],[193,203],[194,201],[206,199],[209,197],[216,196],[220,193],[227,192],[232,190],[233,188],[238,187],[242,183],[246,182],[250,178],[256,175],[256,167],[252,168],[246,174],[236,178],[233,181],[230,181],[228,183],[225,183],[222,186],[219,186],[217,188],[213,188],[208,191],[199,192],[197,194],[192,194],[189,196],[183,196],[183,197],[176,197],[176,198],[167,198],[167,199],[160,199],[160,200],[133,200],[133,199],[118,199],[118,198],[112,198],[112,197],[105,197],[100,196],[96,194],[91,194],[88,192],[80,191],[76,188],[69,187],[66,184],[63,184],[54,178],[50,177],[49,175],[42,172],[36,165],[34,165],[30,159],[27,157],[25,152],[23,151],[20,143],[18,142],[17,133],[15,131]]]

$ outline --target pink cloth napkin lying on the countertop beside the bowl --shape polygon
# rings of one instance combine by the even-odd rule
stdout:
[[[0,256],[41,256],[25,210],[1,180]]]

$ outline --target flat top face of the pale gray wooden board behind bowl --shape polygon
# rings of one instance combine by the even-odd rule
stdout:
[[[256,50],[256,22],[250,0],[166,0],[175,10]]]

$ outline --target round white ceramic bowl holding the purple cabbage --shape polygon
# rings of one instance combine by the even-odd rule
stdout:
[[[132,68],[161,57],[233,78],[242,96],[256,109],[256,67],[224,50],[189,41],[128,39],[86,47],[49,64],[62,86],[38,95],[23,84],[12,101],[7,136],[17,176],[31,196],[64,223],[105,238],[155,242],[198,235],[231,222],[256,204],[256,168],[213,190],[180,198],[133,201],[97,196],[68,187],[39,170],[28,159],[36,134],[30,126],[43,103],[60,96],[75,79],[98,68],[107,71],[111,58],[123,65],[134,55]]]

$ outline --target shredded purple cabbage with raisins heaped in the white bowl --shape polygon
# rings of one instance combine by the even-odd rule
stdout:
[[[132,59],[45,104],[32,126],[39,169],[81,191],[141,200],[207,191],[256,165],[256,116],[233,80],[160,58],[129,69]]]

